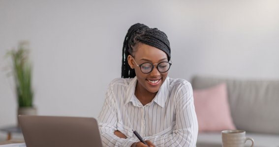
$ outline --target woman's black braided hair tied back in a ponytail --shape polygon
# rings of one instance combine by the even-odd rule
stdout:
[[[168,61],[170,60],[170,43],[167,35],[157,28],[149,28],[144,24],[134,24],[129,29],[124,38],[122,50],[122,75],[123,78],[132,78],[136,76],[134,69],[131,69],[127,57],[133,56],[138,43],[143,43],[157,49],[161,49],[167,54]]]

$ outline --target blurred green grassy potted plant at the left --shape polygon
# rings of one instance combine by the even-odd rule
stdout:
[[[18,49],[12,49],[8,55],[12,59],[12,73],[18,102],[18,115],[36,115],[33,106],[32,66],[29,60],[29,43],[20,42]]]

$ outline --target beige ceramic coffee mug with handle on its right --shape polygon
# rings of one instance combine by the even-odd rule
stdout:
[[[252,142],[250,147],[253,147],[254,140],[250,137],[246,137],[244,130],[222,131],[222,147],[244,147],[247,140]]]

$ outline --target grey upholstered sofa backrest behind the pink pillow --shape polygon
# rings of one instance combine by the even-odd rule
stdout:
[[[194,76],[193,89],[225,82],[237,129],[279,134],[279,80],[245,80]]]

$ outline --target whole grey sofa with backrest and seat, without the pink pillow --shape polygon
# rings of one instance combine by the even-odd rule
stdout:
[[[191,84],[195,90],[223,82],[236,128],[246,130],[246,136],[255,141],[254,147],[279,147],[279,80],[194,76]],[[197,147],[221,146],[220,132],[198,134]]]

